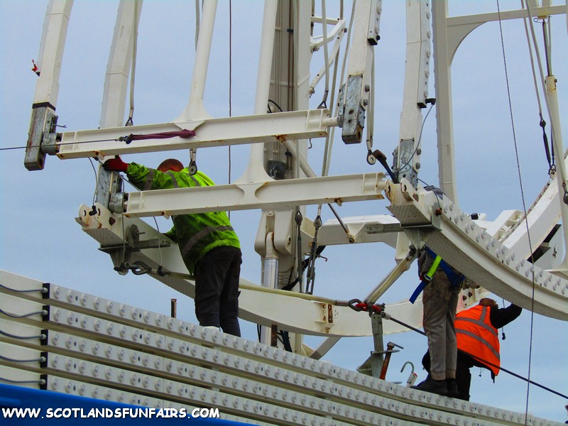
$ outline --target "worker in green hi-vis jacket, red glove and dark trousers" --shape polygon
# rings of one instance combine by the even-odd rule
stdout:
[[[105,170],[124,172],[140,190],[213,186],[202,172],[190,175],[180,161],[170,158],[157,169],[107,160]],[[166,233],[178,243],[187,270],[195,275],[195,315],[203,327],[220,327],[241,336],[239,327],[239,275],[242,254],[225,212],[179,214]]]

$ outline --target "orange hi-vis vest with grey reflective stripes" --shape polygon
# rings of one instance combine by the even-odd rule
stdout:
[[[477,305],[459,312],[454,324],[457,349],[474,356],[477,361],[486,365],[497,376],[498,366],[501,366],[499,338],[497,329],[491,325],[491,320],[489,320],[490,314],[491,307]]]

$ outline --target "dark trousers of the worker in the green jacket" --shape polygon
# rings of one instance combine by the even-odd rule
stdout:
[[[239,275],[241,250],[212,249],[195,266],[195,315],[203,327],[221,327],[241,336],[239,327]]]

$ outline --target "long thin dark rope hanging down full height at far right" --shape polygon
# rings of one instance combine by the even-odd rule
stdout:
[[[519,153],[518,153],[518,146],[517,146],[517,136],[515,134],[515,121],[513,120],[513,106],[510,100],[510,86],[509,86],[509,76],[508,76],[508,69],[507,69],[507,59],[505,55],[505,43],[503,41],[503,25],[501,22],[501,9],[499,6],[499,0],[497,0],[497,13],[499,17],[499,32],[501,34],[501,50],[503,52],[503,66],[505,67],[505,79],[507,84],[507,98],[509,104],[509,114],[510,114],[510,124],[511,130],[513,131],[513,144],[515,146],[515,158],[517,160],[517,171],[518,171],[518,178],[519,178],[519,187],[520,187],[520,196],[523,201],[523,212],[525,213],[525,217],[527,217],[527,206],[525,204],[525,192],[523,190],[523,178],[520,173],[520,162],[519,162]],[[532,241],[530,240],[530,229],[528,227],[528,221],[525,221],[527,226],[527,238],[528,238],[528,246],[530,250],[530,263],[535,263],[534,258],[532,257]],[[529,352],[528,352],[528,378],[527,378],[527,398],[525,403],[525,425],[527,424],[528,420],[528,400],[530,395],[530,364],[532,361],[532,332],[534,327],[534,318],[535,318],[535,271],[532,269],[532,293],[531,293],[531,305],[530,305],[530,335],[529,335]]]

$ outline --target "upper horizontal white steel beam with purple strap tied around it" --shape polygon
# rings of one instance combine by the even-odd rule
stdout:
[[[246,143],[284,142],[297,138],[322,138],[327,128],[336,126],[327,109],[293,111],[253,116],[236,116],[200,121],[113,127],[62,133],[55,146],[59,158],[90,158],[129,153],[173,151]],[[134,134],[195,130],[192,138],[148,139],[125,143],[118,139]]]

